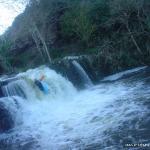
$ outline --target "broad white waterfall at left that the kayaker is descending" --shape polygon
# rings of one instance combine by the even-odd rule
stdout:
[[[45,76],[45,82],[49,86],[49,94],[45,95],[35,84],[35,79],[39,80],[41,76]],[[17,75],[18,80],[11,81],[2,86],[5,96],[20,96],[28,100],[35,99],[62,99],[76,90],[72,83],[57,74],[48,67],[40,67],[29,70],[25,73]],[[70,91],[70,92],[68,92]]]

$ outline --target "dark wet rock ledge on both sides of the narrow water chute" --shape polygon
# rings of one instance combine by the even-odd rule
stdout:
[[[73,64],[73,61],[76,61],[83,68],[93,83],[96,83],[104,76],[101,69],[95,63],[96,56],[68,56],[53,62],[50,67],[67,77],[76,87],[82,88],[85,85],[85,81]]]

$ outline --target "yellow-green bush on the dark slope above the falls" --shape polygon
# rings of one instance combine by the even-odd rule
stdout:
[[[74,39],[89,47],[96,26],[90,19],[88,5],[80,4],[66,11],[61,18],[61,31],[66,40]]]

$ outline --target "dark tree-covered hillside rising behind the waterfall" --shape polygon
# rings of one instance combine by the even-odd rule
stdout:
[[[15,42],[31,37],[34,20],[53,59],[98,54],[102,66],[112,72],[150,64],[149,8],[149,0],[31,0],[8,36]],[[11,61],[14,66],[33,66],[42,63],[38,60],[35,48],[32,56],[24,53]]]

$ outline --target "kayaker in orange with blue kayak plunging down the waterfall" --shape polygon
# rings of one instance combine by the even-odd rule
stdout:
[[[42,75],[39,80],[35,79],[34,83],[44,94],[48,94],[49,85],[44,81],[44,79],[45,79],[45,76]]]

